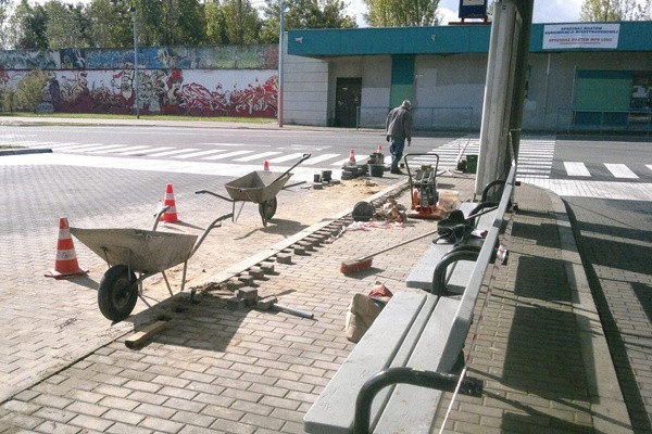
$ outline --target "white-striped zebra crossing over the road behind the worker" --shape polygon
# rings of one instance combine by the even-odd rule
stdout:
[[[5,136],[3,139],[11,139]],[[54,141],[24,141],[21,145],[36,149],[51,149],[54,153],[89,154],[97,156],[117,157],[149,157],[178,161],[196,161],[206,163],[229,164],[262,164],[284,166],[303,155],[296,150],[251,150],[244,143],[206,142],[197,143],[197,148],[178,149],[172,145],[156,146],[150,144],[125,143],[79,143]],[[410,158],[410,164],[438,164],[441,170],[455,170],[457,163],[469,155],[478,155],[480,140],[477,135],[453,139],[438,148],[431,149],[424,155]],[[532,181],[538,179],[599,179],[599,180],[640,180],[652,178],[652,164],[639,164],[636,167],[623,163],[585,163],[554,162],[555,138],[553,136],[524,136],[518,149],[518,180]],[[408,150],[409,152],[409,150]],[[439,161],[437,161],[439,158]],[[364,158],[359,158],[361,162]],[[340,153],[318,153],[302,163],[312,167],[339,168],[349,161],[348,150]],[[386,155],[389,163],[389,155]]]

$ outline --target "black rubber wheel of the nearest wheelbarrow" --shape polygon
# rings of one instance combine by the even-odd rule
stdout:
[[[126,265],[115,265],[102,276],[98,289],[98,305],[102,315],[112,321],[127,318],[138,299],[136,275]]]

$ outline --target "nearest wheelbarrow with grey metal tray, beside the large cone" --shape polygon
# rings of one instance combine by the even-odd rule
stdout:
[[[98,288],[98,305],[106,319],[122,321],[127,318],[138,297],[142,298],[142,281],[158,272],[163,276],[170,295],[174,295],[165,270],[181,263],[180,291],[184,291],[188,259],[213,228],[231,217],[226,214],[213,220],[198,240],[192,234],[156,231],[156,225],[167,208],[159,212],[151,231],[71,228],[73,235],[109,265]]]

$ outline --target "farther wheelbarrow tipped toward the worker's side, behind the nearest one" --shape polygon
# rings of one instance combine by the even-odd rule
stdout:
[[[224,187],[226,188],[226,192],[229,197],[226,197],[222,194],[214,193],[209,190],[200,190],[197,191],[196,194],[211,194],[213,196],[220,197],[222,200],[228,201],[233,203],[233,221],[236,221],[242,212],[242,207],[246,202],[253,202],[259,205],[259,214],[261,215],[261,219],[263,220],[263,226],[267,226],[267,221],[274,217],[276,214],[277,201],[276,194],[283,189],[288,189],[290,187],[299,186],[302,182],[297,182],[291,186],[286,186],[292,174],[294,167],[299,166],[301,163],[310,158],[311,154],[303,154],[301,159],[299,159],[292,167],[287,169],[284,173],[278,171],[268,171],[268,170],[254,170],[235,179],[230,182],[227,182]],[[240,209],[236,213],[236,203],[241,202]]]

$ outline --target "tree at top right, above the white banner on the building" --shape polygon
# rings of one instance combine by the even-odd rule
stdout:
[[[644,21],[652,20],[652,0],[584,0],[580,21]]]

